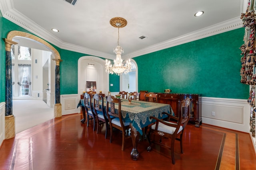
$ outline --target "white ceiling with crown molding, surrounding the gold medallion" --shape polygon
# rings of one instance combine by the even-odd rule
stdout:
[[[242,27],[247,0],[0,0],[2,16],[42,39],[71,51],[114,59],[118,29],[110,19],[122,17],[122,57],[136,57]],[[198,11],[204,14],[195,17]],[[230,26],[231,25],[231,26]],[[53,32],[51,29],[58,29]],[[146,36],[146,39],[139,39]],[[186,37],[186,38],[184,38]],[[41,45],[15,38],[22,45]],[[47,49],[44,49],[47,50]]]

